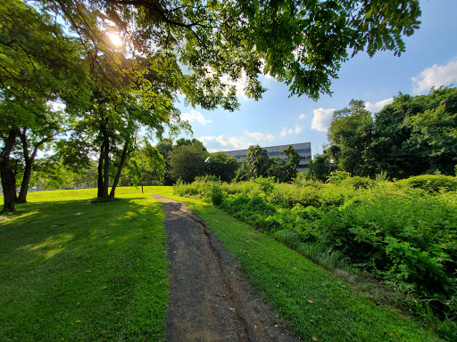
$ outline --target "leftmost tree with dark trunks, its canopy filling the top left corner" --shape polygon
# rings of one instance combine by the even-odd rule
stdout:
[[[69,109],[84,105],[87,72],[80,65],[76,41],[65,37],[49,15],[29,4],[2,2],[0,28],[0,175],[3,210],[14,211],[16,191],[10,155],[17,138],[21,137],[24,159],[20,200],[25,201],[37,149],[52,140],[59,129],[55,125],[59,119],[49,102],[60,99]]]

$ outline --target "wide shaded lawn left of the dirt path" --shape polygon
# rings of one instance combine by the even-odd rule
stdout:
[[[0,340],[162,340],[162,204],[134,188],[29,193],[0,221]]]

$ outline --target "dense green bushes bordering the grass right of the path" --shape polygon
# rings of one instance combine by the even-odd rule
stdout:
[[[175,190],[212,199],[324,265],[370,272],[457,318],[455,178],[427,175],[387,183],[335,175],[334,181],[198,179]]]

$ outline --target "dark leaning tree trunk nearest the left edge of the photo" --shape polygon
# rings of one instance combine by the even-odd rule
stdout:
[[[16,175],[12,172],[10,153],[16,142],[18,131],[11,129],[8,136],[4,137],[4,148],[0,155],[0,176],[4,189],[4,208],[2,211],[16,211],[14,201],[16,200]]]

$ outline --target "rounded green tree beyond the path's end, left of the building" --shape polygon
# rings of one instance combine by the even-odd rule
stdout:
[[[203,145],[182,145],[170,152],[170,178],[175,182],[181,178],[186,183],[194,181],[198,175],[207,173],[204,160],[209,153]]]

